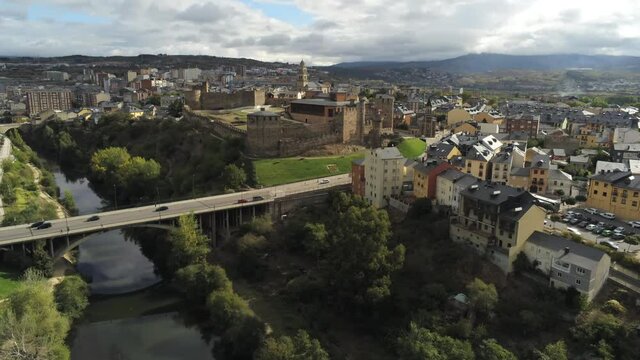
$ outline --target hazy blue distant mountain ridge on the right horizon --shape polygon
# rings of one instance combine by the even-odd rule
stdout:
[[[452,59],[412,62],[350,62],[328,68],[337,73],[345,70],[380,72],[400,69],[429,69],[450,73],[482,73],[504,70],[566,70],[570,68],[591,68],[594,70],[626,70],[640,72],[640,57],[609,55],[502,55],[469,54]]]

